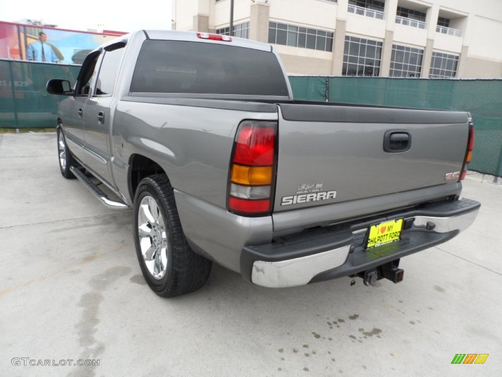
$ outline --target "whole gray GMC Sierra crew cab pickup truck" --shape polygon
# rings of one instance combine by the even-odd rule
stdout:
[[[268,44],[142,30],[47,90],[67,96],[61,173],[132,208],[141,270],[162,297],[200,288],[213,261],[264,287],[399,282],[401,257],[479,210],[459,199],[468,113],[294,101]]]

